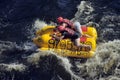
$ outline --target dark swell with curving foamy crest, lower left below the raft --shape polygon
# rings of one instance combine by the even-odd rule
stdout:
[[[6,44],[7,43],[7,44]],[[14,46],[14,48],[10,47]],[[50,51],[28,51],[18,48],[12,42],[1,42],[0,79],[1,80],[75,80],[67,58]]]

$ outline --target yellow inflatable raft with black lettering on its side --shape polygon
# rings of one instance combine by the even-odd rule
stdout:
[[[40,50],[50,50],[61,56],[77,58],[90,58],[95,55],[97,39],[97,32],[95,28],[82,26],[83,33],[88,34],[91,37],[81,37],[80,43],[91,45],[92,49],[90,51],[85,51],[84,48],[79,50],[69,39],[63,39],[59,42],[52,39],[50,35],[54,33],[54,28],[55,26],[45,26],[36,32],[36,37],[33,39],[33,42]]]

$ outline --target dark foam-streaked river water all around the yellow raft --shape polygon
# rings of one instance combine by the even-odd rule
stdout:
[[[120,0],[1,0],[0,80],[120,80],[119,14]],[[96,56],[77,68],[32,43],[37,19],[49,24],[58,16],[98,24]]]

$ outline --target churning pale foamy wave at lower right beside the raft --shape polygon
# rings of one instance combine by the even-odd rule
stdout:
[[[120,71],[120,40],[109,41],[98,45],[96,56],[84,64],[77,74],[85,80],[117,79]],[[113,76],[114,75],[114,76]]]

